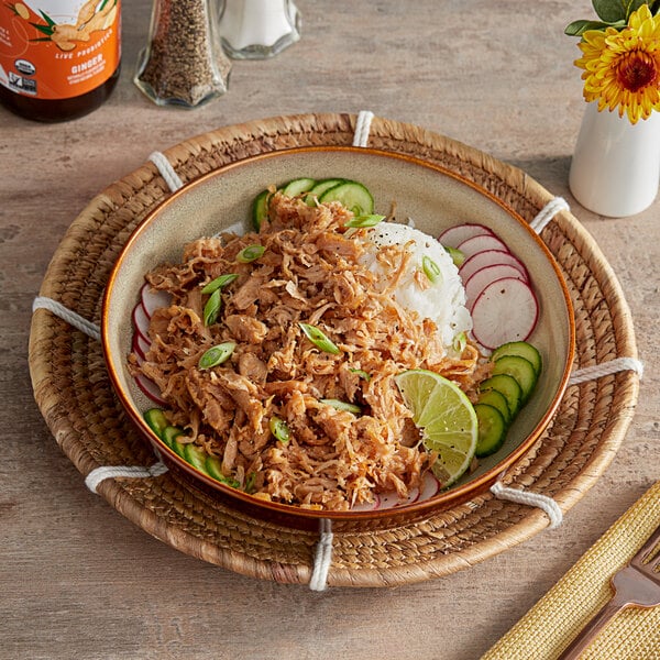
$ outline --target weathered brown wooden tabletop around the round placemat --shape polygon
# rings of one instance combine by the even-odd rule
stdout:
[[[150,7],[124,2],[123,69],[101,109],[52,125],[0,109],[0,657],[479,658],[660,472],[660,201],[606,219],[566,184],[585,106],[563,28],[591,2],[298,0],[302,40],[235,62],[229,94],[194,111],[157,108],[132,82]],[[184,556],[91,494],[34,403],[28,338],[70,222],[153,151],[252,119],[360,110],[460,140],[564,197],[623,285],[646,371],[619,452],[560,528],[448,578],[315,593]]]

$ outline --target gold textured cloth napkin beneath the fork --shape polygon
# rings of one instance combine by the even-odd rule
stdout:
[[[660,482],[626,512],[482,660],[554,660],[612,597],[609,579],[660,525]],[[660,606],[617,614],[583,660],[660,658]]]

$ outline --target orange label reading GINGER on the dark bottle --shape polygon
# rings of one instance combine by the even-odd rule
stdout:
[[[121,58],[121,0],[1,0],[0,85],[38,99],[102,85]]]

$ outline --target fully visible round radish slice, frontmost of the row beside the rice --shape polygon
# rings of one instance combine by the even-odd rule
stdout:
[[[472,333],[486,349],[525,341],[534,330],[539,305],[530,286],[515,277],[492,282],[472,306]]]

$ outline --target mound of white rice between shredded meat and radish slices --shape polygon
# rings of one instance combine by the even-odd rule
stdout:
[[[381,290],[392,284],[394,274],[377,261],[378,250],[385,245],[407,245],[413,256],[394,297],[402,307],[416,311],[421,319],[435,321],[442,344],[451,351],[454,338],[472,329],[472,317],[465,308],[465,289],[459,270],[440,242],[417,229],[394,222],[378,223],[364,232],[362,240],[366,249],[362,263],[378,276]],[[441,273],[427,288],[420,287],[415,279],[416,273],[424,273],[425,255],[433,261]]]

